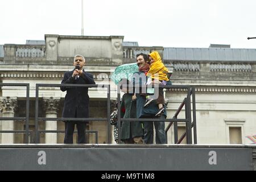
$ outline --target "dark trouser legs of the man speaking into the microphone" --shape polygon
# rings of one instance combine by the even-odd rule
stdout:
[[[65,122],[65,138],[64,143],[73,143],[73,133],[77,127],[78,141],[77,143],[86,143],[85,139],[85,122],[66,121]]]

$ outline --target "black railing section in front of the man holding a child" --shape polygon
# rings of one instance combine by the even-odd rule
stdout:
[[[117,100],[118,100],[118,111],[121,109],[120,108],[120,86],[117,86]],[[128,86],[128,85],[126,85]],[[140,86],[140,85],[134,85],[135,88],[144,88],[146,90],[147,86]],[[159,88],[166,88],[166,89],[185,89],[187,90],[187,97],[184,98],[183,102],[177,109],[174,117],[172,119],[146,119],[146,118],[133,118],[133,119],[128,119],[128,118],[121,118],[120,112],[118,112],[118,131],[121,131],[121,121],[131,121],[131,122],[136,122],[136,121],[143,121],[143,122],[170,122],[170,124],[167,126],[166,129],[166,143],[167,143],[167,131],[170,129],[172,126],[172,123],[176,123],[174,125],[174,135],[175,135],[175,143],[180,143],[185,136],[187,136],[187,144],[192,144],[192,127],[194,131],[194,143],[197,143],[197,135],[196,135],[196,101],[195,101],[195,88],[192,88],[190,85],[166,85],[166,86],[159,86]],[[191,118],[191,95],[192,95],[192,106],[193,106],[193,123],[192,125],[192,118]],[[185,118],[184,119],[177,119],[177,115],[179,115],[181,109],[185,106]],[[177,139],[177,122],[186,122],[186,131],[182,135],[180,139]],[[118,132],[118,143],[121,142],[121,139],[119,137],[119,132]]]

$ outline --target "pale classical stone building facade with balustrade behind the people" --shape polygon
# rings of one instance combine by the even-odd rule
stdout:
[[[123,42],[123,36],[45,35],[42,44],[5,44],[0,46],[0,82],[30,84],[30,125],[35,131],[35,84],[60,84],[63,74],[73,69],[73,56],[86,57],[85,71],[93,74],[96,84],[110,84],[111,100],[117,98],[110,81],[114,68],[134,63],[137,53],[159,51],[164,64],[172,71],[175,85],[196,89],[197,143],[249,144],[246,135],[256,134],[256,49],[139,47]],[[172,118],[185,97],[182,89],[167,89],[167,114]],[[90,88],[90,117],[107,117],[107,91]],[[65,92],[57,87],[39,90],[39,117],[61,117]],[[2,86],[1,117],[26,115],[26,88]],[[184,110],[180,117],[184,117]],[[0,130],[24,130],[24,121],[0,121]],[[107,122],[90,122],[87,130],[98,131],[98,143],[108,139]],[[166,123],[167,125],[167,123]],[[179,135],[185,124],[178,124]],[[39,130],[64,130],[61,121],[40,121]],[[76,136],[76,134],[75,134]],[[41,133],[40,143],[63,143],[64,133]],[[95,135],[88,134],[89,143]],[[24,134],[0,134],[1,143],[24,143]],[[31,134],[30,143],[34,141]],[[76,142],[76,137],[75,141]],[[185,142],[185,140],[183,141]],[[174,129],[168,131],[168,143],[174,143]]]

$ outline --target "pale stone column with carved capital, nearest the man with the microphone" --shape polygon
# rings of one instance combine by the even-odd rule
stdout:
[[[43,98],[46,118],[57,118],[60,98]],[[57,121],[46,121],[46,130],[57,130]],[[57,143],[57,133],[46,133],[46,143]]]

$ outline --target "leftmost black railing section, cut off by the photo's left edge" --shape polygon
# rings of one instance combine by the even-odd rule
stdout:
[[[30,84],[9,84],[9,83],[0,83],[0,86],[26,86],[26,117],[1,117],[1,121],[9,121],[9,120],[18,120],[18,121],[26,121],[26,130],[18,130],[18,131],[8,131],[0,133],[26,133],[25,142],[28,143],[28,134],[30,131],[28,130],[29,125],[29,111],[30,111]]]

